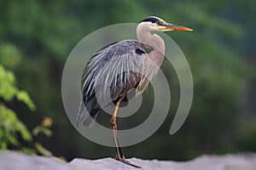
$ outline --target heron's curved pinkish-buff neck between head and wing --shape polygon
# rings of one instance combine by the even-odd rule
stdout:
[[[137,26],[137,38],[139,42],[153,48],[148,57],[160,66],[166,52],[164,40],[156,34],[152,35],[148,30],[148,26],[143,24]]]

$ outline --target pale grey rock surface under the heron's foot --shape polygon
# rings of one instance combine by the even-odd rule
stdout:
[[[132,163],[153,170],[256,170],[256,154],[199,156],[191,161],[157,161],[129,159]],[[86,160],[75,158],[65,162],[55,157],[27,156],[20,152],[0,152],[0,170],[136,170],[112,158]]]

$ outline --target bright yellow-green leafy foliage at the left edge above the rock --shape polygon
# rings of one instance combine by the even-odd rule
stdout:
[[[30,133],[26,125],[16,116],[15,111],[7,108],[5,103],[12,99],[17,99],[27,105],[31,111],[35,111],[36,107],[32,99],[26,91],[20,90],[15,86],[13,72],[5,70],[3,65],[0,65],[0,82],[0,98],[3,99],[3,102],[0,102],[0,150],[7,150],[9,146],[14,145],[27,154],[40,153],[44,156],[51,156],[51,152],[45,150],[43,145],[38,142],[34,144],[35,149],[22,146],[20,138],[22,142],[33,143],[33,138],[40,133],[50,137],[51,131],[49,127],[51,127],[52,120],[49,117],[44,118],[42,124],[34,127],[32,133]]]

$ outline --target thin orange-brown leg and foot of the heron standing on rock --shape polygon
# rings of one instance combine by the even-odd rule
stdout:
[[[115,144],[115,152],[116,152],[116,157],[115,157],[115,159],[116,159],[117,161],[121,161],[121,162],[123,162],[123,163],[125,163],[125,164],[131,165],[132,167],[141,168],[141,167],[139,167],[139,166],[137,166],[137,165],[134,165],[134,164],[130,163],[130,161],[126,161],[126,160],[125,160],[125,156],[124,156],[124,154],[123,154],[123,152],[122,152],[122,150],[121,150],[121,147],[119,147],[119,140],[118,140],[118,133],[117,133],[117,125],[116,125],[116,116],[117,116],[117,112],[118,112],[118,110],[119,110],[119,105],[120,105],[122,99],[124,99],[124,97],[123,97],[123,98],[120,98],[120,99],[118,100],[118,102],[116,103],[116,105],[115,105],[115,107],[114,107],[114,111],[113,111],[113,116],[112,116],[111,119],[110,119],[110,125],[111,125],[112,130],[113,130],[113,140],[114,140],[114,144]]]

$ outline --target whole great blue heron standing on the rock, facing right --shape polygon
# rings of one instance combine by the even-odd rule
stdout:
[[[133,167],[139,167],[125,160],[119,147],[116,116],[120,103],[127,101],[131,89],[137,94],[143,92],[148,82],[158,71],[165,55],[165,42],[150,31],[192,31],[183,26],[167,23],[155,16],[149,16],[137,25],[137,39],[124,40],[103,48],[90,60],[85,70],[82,101],[77,124],[91,126],[102,107],[115,104],[110,124],[116,150],[116,160]],[[146,53],[145,48],[150,52]],[[109,93],[110,94],[109,94]],[[99,95],[97,95],[99,94]],[[109,95],[105,95],[109,94]]]

